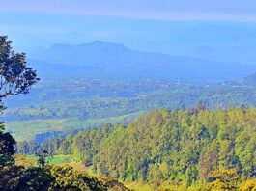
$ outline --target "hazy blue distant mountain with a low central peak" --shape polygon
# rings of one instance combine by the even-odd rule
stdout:
[[[36,48],[28,52],[28,58],[43,77],[210,83],[235,80],[256,71],[256,65],[146,53],[102,41]]]

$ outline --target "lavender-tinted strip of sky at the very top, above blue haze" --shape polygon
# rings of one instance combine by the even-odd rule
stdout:
[[[0,0],[0,11],[254,21],[255,0]]]

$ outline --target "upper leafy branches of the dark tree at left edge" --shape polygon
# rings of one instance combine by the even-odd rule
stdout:
[[[39,81],[36,71],[27,67],[26,55],[15,53],[11,44],[7,36],[0,36],[0,111],[6,108],[6,97],[27,94]]]

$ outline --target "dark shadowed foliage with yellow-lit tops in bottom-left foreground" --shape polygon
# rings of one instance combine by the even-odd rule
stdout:
[[[18,166],[5,167],[0,169],[0,190],[128,191],[116,180],[88,177],[68,165],[28,169]]]

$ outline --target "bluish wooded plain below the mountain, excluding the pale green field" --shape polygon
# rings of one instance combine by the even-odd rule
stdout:
[[[194,86],[163,82],[71,81],[43,84],[26,97],[10,100],[5,122],[37,119],[99,119],[168,108],[210,109],[256,106],[255,86],[237,83]]]

